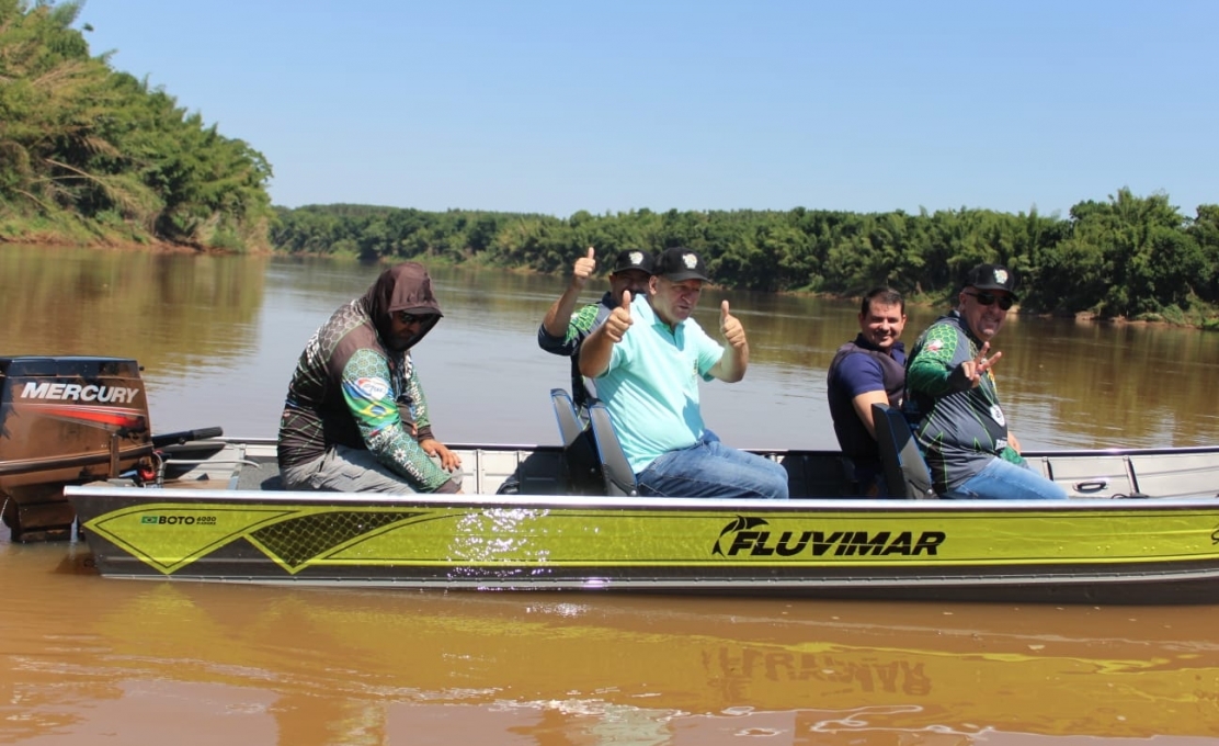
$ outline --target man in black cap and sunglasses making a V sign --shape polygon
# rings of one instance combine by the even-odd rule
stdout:
[[[1003,353],[987,353],[1015,300],[1007,267],[978,265],[957,308],[928,327],[906,364],[903,408],[941,497],[1067,497],[1020,456],[998,403],[991,368]]]

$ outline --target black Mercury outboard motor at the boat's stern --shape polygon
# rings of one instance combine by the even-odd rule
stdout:
[[[117,357],[0,357],[0,499],[13,541],[71,539],[63,486],[157,474],[157,449],[219,428],[154,436],[140,367]]]

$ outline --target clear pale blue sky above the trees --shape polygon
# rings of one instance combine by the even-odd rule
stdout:
[[[1219,204],[1219,2],[88,0],[277,205]]]

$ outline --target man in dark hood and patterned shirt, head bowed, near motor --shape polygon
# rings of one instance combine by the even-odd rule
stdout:
[[[427,269],[405,262],[322,324],[279,423],[285,489],[461,491],[461,460],[433,435],[411,360],[440,317]]]

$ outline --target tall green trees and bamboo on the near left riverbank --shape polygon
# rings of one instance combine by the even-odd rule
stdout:
[[[79,11],[0,0],[0,240],[266,247],[267,160],[91,56]]]

